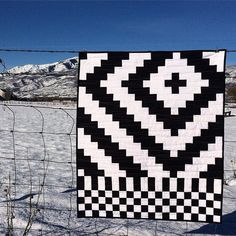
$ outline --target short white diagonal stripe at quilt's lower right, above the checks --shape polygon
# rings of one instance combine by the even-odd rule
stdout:
[[[199,173],[207,171],[208,165],[215,164],[216,158],[222,158],[222,137],[216,137],[215,143],[208,144],[208,150],[201,151],[200,157],[193,158],[193,164],[186,164],[185,171],[178,171],[178,178],[199,178]]]

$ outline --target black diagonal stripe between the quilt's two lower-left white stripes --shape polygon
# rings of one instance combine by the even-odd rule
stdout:
[[[78,128],[83,128],[85,135],[91,135],[91,141],[97,142],[98,148],[104,149],[105,155],[111,156],[112,162],[118,163],[120,170],[126,171],[127,177],[147,177],[147,171],[141,170],[141,164],[134,164],[133,157],[127,156],[126,150],[119,149],[119,144],[113,143],[111,136],[98,128],[98,122],[92,121],[91,115],[85,114],[83,108],[78,109]]]

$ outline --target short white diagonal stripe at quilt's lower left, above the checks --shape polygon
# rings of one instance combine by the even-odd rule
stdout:
[[[119,164],[112,163],[111,157],[106,156],[98,144],[91,142],[91,136],[84,134],[84,129],[78,128],[78,147],[84,149],[84,154],[91,157],[92,163],[97,163],[98,168],[105,171],[105,176],[126,177],[126,172],[119,169]],[[112,167],[112,168],[111,168]]]

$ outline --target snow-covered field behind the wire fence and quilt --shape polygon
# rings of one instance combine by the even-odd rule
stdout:
[[[78,219],[75,119],[75,105],[0,103],[0,235],[9,211],[23,235],[35,209],[29,235],[236,235],[236,116],[225,118],[222,224]]]

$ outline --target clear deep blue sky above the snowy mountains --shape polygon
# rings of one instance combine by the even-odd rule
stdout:
[[[236,1],[0,1],[0,48],[236,49]],[[72,56],[0,52],[7,67]]]

